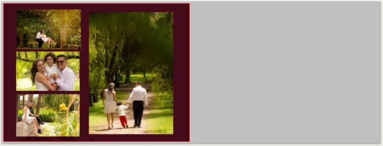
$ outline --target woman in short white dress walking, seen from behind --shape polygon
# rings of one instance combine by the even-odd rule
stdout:
[[[104,113],[106,114],[106,119],[108,120],[108,130],[113,128],[114,121],[114,112],[116,112],[116,92],[114,91],[114,83],[111,82],[108,85],[108,88],[104,90],[102,97],[102,104],[104,105]],[[112,122],[110,122],[112,120]]]

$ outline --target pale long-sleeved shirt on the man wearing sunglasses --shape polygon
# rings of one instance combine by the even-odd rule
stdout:
[[[74,82],[76,80],[76,74],[69,69],[68,67],[65,67],[64,70],[59,73],[60,76],[56,79],[56,83],[58,86],[57,91],[74,91]]]

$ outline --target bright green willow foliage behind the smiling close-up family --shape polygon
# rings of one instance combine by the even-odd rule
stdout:
[[[32,67],[32,62],[35,59],[42,59],[49,52],[16,52],[16,85],[17,80],[29,77],[29,71]],[[63,54],[67,57],[67,66],[72,69],[74,73],[80,72],[80,52],[51,52],[56,56]]]

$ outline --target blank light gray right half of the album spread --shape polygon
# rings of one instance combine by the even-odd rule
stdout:
[[[191,142],[380,143],[380,49],[380,2],[191,2]]]

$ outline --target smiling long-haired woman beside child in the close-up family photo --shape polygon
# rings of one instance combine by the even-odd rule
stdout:
[[[42,59],[36,59],[32,63],[32,68],[30,69],[30,80],[32,85],[36,85],[36,91],[56,91],[57,84],[51,84],[49,80],[44,75],[45,66]]]

